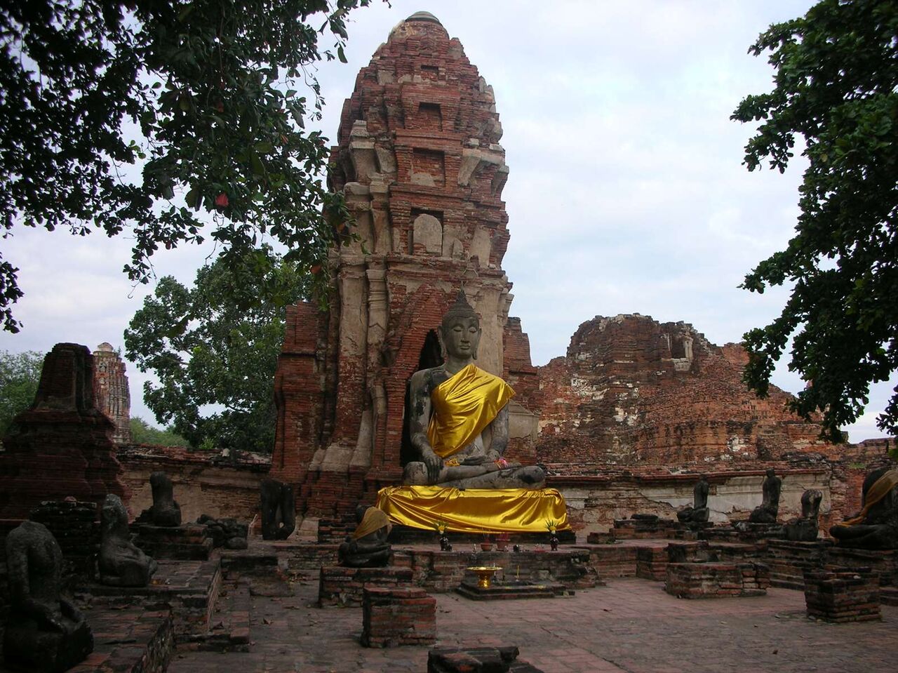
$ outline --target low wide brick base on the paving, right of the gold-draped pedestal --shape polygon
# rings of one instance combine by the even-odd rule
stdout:
[[[665,591],[677,598],[765,596],[770,569],[763,563],[668,563]]]

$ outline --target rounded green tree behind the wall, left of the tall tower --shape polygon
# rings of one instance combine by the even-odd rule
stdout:
[[[160,279],[125,331],[128,359],[159,379],[144,384],[156,418],[193,447],[270,452],[286,306],[309,284],[268,246],[200,269],[193,288]]]

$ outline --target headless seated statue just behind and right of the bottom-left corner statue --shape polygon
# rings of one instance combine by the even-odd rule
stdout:
[[[118,495],[103,500],[100,514],[100,581],[112,587],[145,587],[159,564],[131,542],[128,511]]]

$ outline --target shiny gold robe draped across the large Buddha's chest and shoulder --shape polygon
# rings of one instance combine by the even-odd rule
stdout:
[[[434,453],[445,458],[467,447],[514,394],[501,378],[472,364],[437,385],[430,394],[434,413],[427,427]]]

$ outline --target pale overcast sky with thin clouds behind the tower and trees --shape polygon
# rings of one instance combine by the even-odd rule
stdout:
[[[563,355],[595,315],[684,321],[720,345],[779,314],[785,291],[758,296],[737,286],[792,235],[804,165],[748,173],[752,128],[729,116],[744,95],[771,87],[772,69],[746,53],[749,45],[812,3],[391,4],[352,13],[348,65],[319,68],[328,103],[321,128],[336,137],[359,68],[397,22],[427,10],[462,41],[495,90],[505,130],[511,241],[503,267],[533,364]],[[15,307],[24,328],[0,333],[0,350],[45,351],[57,341],[123,349],[122,332],[152,291],[121,272],[127,236],[20,229],[2,246],[21,268],[25,297]],[[189,284],[209,252],[160,252],[156,274]],[[132,415],[152,421],[141,399],[146,376],[131,363],[128,376]],[[802,386],[786,367],[774,381],[790,392]],[[881,436],[874,421],[889,390],[874,390],[850,428],[853,441]]]

